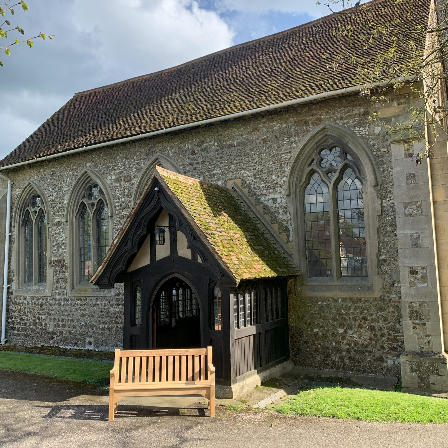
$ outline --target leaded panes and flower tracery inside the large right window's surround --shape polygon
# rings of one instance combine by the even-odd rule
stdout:
[[[367,277],[363,181],[349,152],[339,146],[317,151],[302,204],[307,276]]]

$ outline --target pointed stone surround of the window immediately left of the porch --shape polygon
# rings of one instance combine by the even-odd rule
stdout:
[[[113,296],[114,289],[99,289],[94,284],[83,282],[80,283],[80,262],[79,262],[79,212],[81,209],[82,196],[86,191],[86,187],[89,183],[96,183],[103,191],[103,196],[100,200],[105,203],[109,213],[109,244],[113,240],[113,217],[115,216],[115,207],[112,199],[112,195],[109,191],[108,184],[104,179],[90,168],[84,169],[84,171],[78,176],[74,182],[72,190],[69,194],[67,201],[67,207],[65,210],[65,221],[68,223],[67,234],[67,254],[68,254],[68,282],[67,282],[67,295],[69,297],[96,297],[96,296]],[[100,201],[99,200],[99,201]],[[93,214],[95,218],[95,212]],[[95,226],[95,221],[92,220],[92,228]],[[92,260],[96,257],[96,251],[94,250],[94,241],[92,239]],[[92,273],[95,271],[95,263],[93,263]]]

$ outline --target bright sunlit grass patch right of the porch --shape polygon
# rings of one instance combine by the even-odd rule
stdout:
[[[367,422],[448,422],[447,399],[369,389],[307,389],[274,409],[281,414]]]

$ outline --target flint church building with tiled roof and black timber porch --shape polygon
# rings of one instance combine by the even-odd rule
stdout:
[[[423,81],[396,60],[399,89],[360,95],[366,14],[409,28],[436,5],[375,0],[76,93],[1,160],[1,343],[211,345],[228,397],[293,365],[448,391],[447,128],[372,120],[403,122]]]

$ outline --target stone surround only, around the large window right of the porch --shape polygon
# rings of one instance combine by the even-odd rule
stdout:
[[[305,223],[303,216],[303,192],[312,171],[311,161],[323,148],[339,146],[346,148],[359,168],[356,174],[362,181],[364,213],[366,223],[366,254],[368,277],[332,277],[308,278],[306,263]],[[333,181],[347,165],[338,167]],[[350,165],[353,167],[353,165]],[[342,168],[344,167],[344,168]],[[288,208],[293,228],[293,257],[302,271],[300,295],[312,297],[379,297],[383,281],[378,272],[378,233],[377,216],[381,214],[381,201],[377,195],[379,173],[373,156],[356,134],[336,124],[326,123],[318,126],[302,139],[294,152],[285,185]],[[335,184],[336,185],[336,184]],[[336,190],[333,188],[332,201],[336,203]],[[332,217],[334,219],[334,216]],[[335,230],[336,229],[336,230]],[[333,232],[337,231],[337,223]],[[333,241],[336,241],[336,236]],[[339,254],[339,247],[332,247],[333,258]],[[339,262],[338,262],[339,263]],[[337,266],[337,265],[336,265]],[[339,273],[340,274],[340,273]]]

